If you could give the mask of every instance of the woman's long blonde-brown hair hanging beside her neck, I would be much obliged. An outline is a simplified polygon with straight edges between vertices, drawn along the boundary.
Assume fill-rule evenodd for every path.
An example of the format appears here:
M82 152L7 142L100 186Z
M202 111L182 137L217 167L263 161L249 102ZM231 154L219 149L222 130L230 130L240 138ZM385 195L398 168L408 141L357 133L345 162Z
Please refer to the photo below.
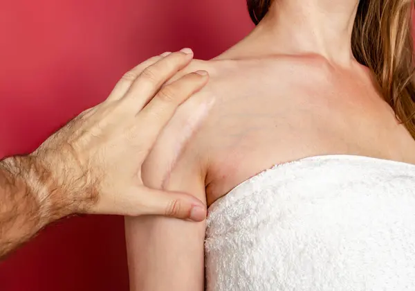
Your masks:
M273 0L248 0L255 24ZM360 0L351 36L353 55L371 71L383 98L415 139L413 0Z

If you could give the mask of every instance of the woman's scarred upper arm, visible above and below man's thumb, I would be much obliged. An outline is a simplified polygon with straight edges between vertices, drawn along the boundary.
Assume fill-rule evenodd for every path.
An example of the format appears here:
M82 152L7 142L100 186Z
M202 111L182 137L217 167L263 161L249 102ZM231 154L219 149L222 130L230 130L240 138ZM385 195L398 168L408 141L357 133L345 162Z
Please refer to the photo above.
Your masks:
M196 93L176 110L142 166L146 186L189 193L206 202L205 141L189 126L212 100ZM196 137L199 136L199 137ZM204 290L205 222L174 218L125 218L130 290Z

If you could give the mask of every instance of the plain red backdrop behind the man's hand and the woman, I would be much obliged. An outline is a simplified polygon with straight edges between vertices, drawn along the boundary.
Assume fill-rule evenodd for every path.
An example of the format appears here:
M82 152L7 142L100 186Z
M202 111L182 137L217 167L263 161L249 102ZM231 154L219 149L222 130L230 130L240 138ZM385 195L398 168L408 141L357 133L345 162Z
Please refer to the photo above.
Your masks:
M212 58L251 28L245 0L2 0L0 158L37 148L146 58ZM48 227L0 263L0 290L127 291L122 218Z

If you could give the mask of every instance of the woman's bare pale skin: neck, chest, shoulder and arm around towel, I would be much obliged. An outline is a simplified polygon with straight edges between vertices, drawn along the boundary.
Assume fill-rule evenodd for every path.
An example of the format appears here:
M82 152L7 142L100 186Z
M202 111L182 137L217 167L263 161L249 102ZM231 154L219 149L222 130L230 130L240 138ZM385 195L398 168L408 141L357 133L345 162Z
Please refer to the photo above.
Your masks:
M278 0L248 37L189 69L210 83L187 101L144 168L149 185L208 206L275 164L344 154L415 164L415 141L351 53L356 0ZM177 78L181 76L178 75ZM163 145L196 100L216 103L178 158ZM164 173L157 168L170 169ZM146 235L143 235L146 233ZM180 233L180 235L178 235ZM126 219L131 290L203 290L205 222Z

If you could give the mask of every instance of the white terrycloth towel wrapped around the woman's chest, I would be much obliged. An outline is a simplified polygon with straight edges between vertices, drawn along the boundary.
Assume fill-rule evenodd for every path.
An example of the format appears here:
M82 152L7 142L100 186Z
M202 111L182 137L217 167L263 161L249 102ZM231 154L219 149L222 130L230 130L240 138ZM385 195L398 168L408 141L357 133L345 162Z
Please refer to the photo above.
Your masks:
M209 209L208 291L415 290L415 166L311 157Z

